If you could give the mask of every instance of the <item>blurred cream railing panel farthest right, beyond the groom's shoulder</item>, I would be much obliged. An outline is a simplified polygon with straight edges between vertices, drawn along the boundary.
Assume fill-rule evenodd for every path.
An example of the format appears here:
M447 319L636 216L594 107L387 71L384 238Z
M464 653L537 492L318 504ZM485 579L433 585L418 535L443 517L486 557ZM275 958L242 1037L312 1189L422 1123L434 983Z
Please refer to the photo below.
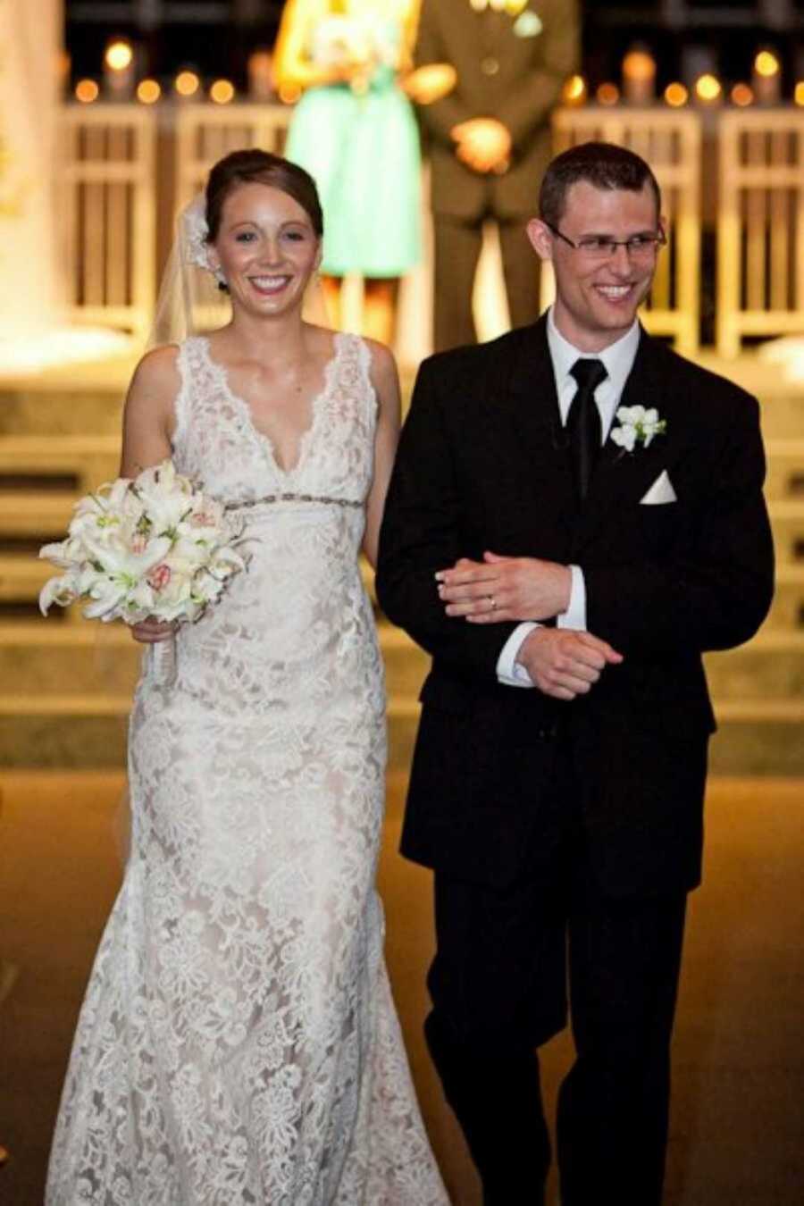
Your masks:
M717 351L804 332L804 110L720 117Z

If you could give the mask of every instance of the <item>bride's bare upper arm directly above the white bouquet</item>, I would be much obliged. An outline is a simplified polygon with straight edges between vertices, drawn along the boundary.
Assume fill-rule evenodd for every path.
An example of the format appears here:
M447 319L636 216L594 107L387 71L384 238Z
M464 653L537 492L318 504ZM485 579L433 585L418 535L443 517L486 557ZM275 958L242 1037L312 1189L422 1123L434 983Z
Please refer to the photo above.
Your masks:
M181 387L175 346L155 347L137 364L123 410L121 476L136 478L171 453L174 400Z

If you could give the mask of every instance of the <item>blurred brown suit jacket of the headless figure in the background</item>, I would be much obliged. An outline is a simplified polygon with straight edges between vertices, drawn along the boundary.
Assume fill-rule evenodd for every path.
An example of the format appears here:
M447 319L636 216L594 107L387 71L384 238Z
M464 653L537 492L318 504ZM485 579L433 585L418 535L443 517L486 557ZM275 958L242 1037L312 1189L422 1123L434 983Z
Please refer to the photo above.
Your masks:
M528 0L517 17L474 12L468 0L423 0L415 64L451 63L458 74L448 96L419 109L436 215L470 219L535 212L551 156L550 115L576 70L579 40L575 0ZM473 117L495 117L509 128L513 156L503 175L479 175L456 158L450 130Z

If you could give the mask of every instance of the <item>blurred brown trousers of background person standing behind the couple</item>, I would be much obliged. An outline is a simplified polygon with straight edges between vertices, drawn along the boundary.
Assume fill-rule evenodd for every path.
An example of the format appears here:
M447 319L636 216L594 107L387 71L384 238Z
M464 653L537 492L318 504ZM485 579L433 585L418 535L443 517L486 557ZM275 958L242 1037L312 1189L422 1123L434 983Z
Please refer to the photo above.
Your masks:
M435 233L435 351L474 344L471 291L482 247L485 217L474 222L436 213ZM539 258L524 233L527 217L499 222L503 274L512 327L539 317Z

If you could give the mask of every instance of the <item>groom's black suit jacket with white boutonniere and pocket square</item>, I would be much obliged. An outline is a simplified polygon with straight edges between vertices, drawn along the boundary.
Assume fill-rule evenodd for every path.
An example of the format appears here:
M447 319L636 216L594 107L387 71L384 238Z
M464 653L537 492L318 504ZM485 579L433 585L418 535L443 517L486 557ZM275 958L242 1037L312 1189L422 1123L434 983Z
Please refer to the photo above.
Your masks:
M604 446L575 502L546 322L422 364L388 493L377 595L433 655L403 853L505 884L548 862L557 734L581 780L589 851L612 895L700 877L702 651L750 638L773 593L756 400L641 334L621 405L656 406L650 447ZM677 500L641 504L667 470ZM497 681L515 625L450 619L433 575L485 550L577 563L588 628L624 654L571 703Z

